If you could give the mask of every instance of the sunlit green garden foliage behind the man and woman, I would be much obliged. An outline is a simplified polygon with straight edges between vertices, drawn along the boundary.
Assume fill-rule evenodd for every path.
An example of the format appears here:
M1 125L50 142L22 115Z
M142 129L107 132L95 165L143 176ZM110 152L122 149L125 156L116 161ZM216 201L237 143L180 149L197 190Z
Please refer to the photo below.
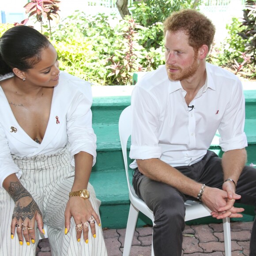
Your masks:
M42 25L42 33L55 46L60 69L98 85L127 85L132 84L133 72L164 64L162 21L173 11L198 9L200 4L201 0L135 1L124 19L76 11L52 26L51 33L48 24ZM207 61L256 79L255 3L245 4L244 19L233 18L227 38L213 45ZM0 24L0 35L11 26Z

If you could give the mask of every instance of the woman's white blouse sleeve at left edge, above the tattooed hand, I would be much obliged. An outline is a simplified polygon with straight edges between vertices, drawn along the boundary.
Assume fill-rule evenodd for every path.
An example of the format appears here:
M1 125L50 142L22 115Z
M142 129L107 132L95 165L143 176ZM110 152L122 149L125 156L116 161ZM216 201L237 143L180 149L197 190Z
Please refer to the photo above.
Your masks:
M0 124L0 188L3 188L5 178L13 173L16 173L18 178L21 176L21 170L11 158L8 141Z

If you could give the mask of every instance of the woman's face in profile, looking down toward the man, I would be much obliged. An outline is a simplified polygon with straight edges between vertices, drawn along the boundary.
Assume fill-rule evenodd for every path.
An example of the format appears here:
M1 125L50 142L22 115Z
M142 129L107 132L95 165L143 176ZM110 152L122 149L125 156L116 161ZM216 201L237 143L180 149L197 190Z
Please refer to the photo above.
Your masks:
M25 73L26 83L40 87L54 87L59 83L59 62L53 45L43 49L41 60Z

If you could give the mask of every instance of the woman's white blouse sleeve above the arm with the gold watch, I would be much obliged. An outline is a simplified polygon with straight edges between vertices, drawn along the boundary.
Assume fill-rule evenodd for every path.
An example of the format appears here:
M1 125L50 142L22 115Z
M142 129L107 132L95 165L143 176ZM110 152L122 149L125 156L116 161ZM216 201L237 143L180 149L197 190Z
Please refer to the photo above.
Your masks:
M96 162L96 135L92 128L91 104L91 97L79 93L67 113L69 151L73 166L75 166L74 155L80 151L93 156L93 166Z

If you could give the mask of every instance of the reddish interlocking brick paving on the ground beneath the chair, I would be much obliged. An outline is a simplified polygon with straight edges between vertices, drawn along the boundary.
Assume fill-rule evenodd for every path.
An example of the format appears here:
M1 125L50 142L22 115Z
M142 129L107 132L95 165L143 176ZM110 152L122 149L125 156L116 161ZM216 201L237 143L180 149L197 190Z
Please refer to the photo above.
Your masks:
M252 222L231 223L232 256L249 256ZM122 256L125 229L103 230L109 256ZM152 228L135 231L130 256L151 256ZM183 239L183 255L224 256L222 224L186 226ZM39 242L37 256L51 256L48 239Z

